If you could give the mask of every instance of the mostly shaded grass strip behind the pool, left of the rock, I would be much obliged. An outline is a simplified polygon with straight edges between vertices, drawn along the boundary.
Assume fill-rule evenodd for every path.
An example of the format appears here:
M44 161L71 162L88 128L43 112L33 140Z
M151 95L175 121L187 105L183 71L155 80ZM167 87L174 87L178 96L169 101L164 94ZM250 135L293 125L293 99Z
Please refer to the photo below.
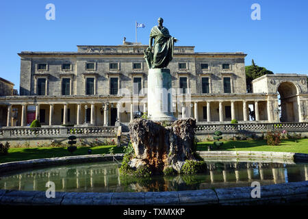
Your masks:
M77 151L71 155L66 147L41 147L41 148L12 148L9 149L8 155L0 156L0 163L15 162L26 159L40 159L51 157L65 157L75 155L88 155L88 149L92 149L92 155L109 154L109 150L114 148L114 153L123 153L123 148L118 148L115 145L103 146L79 146Z

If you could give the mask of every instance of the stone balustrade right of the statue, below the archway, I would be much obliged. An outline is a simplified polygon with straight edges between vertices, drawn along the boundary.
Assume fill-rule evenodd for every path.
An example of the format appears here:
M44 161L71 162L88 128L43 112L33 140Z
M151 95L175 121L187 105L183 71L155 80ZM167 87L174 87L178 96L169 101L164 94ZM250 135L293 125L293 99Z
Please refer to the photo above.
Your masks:
M266 131L307 131L308 123L238 123L238 124L202 124L198 123L196 133L266 132Z

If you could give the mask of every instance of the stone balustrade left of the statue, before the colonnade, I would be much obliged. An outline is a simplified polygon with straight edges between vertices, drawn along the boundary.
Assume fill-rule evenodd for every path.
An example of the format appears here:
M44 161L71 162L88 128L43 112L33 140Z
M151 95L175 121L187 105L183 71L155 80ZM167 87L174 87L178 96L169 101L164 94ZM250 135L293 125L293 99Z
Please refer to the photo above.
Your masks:
M0 129L1 139L18 138L66 138L75 136L114 137L118 127L4 127Z

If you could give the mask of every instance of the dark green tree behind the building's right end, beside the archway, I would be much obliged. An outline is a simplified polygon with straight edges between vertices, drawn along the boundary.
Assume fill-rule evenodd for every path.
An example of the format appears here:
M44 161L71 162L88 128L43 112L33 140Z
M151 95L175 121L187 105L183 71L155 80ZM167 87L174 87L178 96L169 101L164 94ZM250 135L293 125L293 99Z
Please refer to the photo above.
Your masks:
M252 60L251 66L245 66L246 73L246 88L247 92L253 92L253 83L254 79L261 77L263 75L273 75L274 73L271 70L267 70L264 67L257 66L255 61Z

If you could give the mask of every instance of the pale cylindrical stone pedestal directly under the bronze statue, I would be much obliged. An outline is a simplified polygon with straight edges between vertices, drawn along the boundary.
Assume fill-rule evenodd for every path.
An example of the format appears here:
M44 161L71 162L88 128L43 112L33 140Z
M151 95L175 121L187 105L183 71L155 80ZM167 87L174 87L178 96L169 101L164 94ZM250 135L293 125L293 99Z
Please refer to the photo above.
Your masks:
M172 116L171 75L168 68L150 68L148 76L148 116L155 121L175 121Z

